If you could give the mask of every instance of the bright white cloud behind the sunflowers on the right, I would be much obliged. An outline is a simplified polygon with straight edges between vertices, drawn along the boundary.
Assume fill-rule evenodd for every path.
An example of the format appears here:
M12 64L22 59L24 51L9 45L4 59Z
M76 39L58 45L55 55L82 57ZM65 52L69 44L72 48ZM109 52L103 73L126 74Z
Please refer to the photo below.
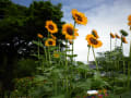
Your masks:
M86 3L86 2L85 2ZM103 41L103 47L95 49L96 52L103 52L110 49L110 38L109 34L119 33L120 29L124 29L130 33L127 25L127 17L131 14L131 0L115 0L111 4L103 3L97 8L90 11L85 11L88 19L86 26L76 26L79 28L80 37L74 42L74 52L78 53L76 60L86 61L87 59L87 42L85 36L95 28ZM69 9L70 10L70 9ZM68 11L67 11L68 13ZM71 14L70 14L71 15ZM131 35L129 35L131 36ZM129 44L123 45L124 54L129 53L130 39L129 36L127 40ZM118 46L120 40L118 40ZM112 40L112 49L115 48L115 40ZM90 60L94 60L93 53L91 52Z

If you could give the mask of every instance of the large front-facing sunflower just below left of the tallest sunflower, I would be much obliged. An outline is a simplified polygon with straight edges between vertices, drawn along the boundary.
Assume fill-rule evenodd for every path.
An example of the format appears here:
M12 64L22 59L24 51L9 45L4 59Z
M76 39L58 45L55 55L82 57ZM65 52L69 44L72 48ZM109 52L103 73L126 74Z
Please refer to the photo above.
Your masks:
M75 39L76 36L79 36L76 32L78 29L75 29L72 24L62 25L62 34L66 35L66 39Z

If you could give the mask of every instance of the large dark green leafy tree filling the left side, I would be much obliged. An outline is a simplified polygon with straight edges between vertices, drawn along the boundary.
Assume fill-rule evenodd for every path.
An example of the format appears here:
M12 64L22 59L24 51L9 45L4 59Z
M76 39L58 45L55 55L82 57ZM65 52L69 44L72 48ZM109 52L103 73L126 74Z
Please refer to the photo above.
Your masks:
M29 8L10 0L0 1L0 84L3 91L13 89L12 79L19 76L17 61L31 58L32 50L36 49L32 41L37 39L37 33L47 37L45 22L52 20L61 29L64 23L61 17L61 4L53 5L50 1L34 1ZM56 36L64 40L61 30Z

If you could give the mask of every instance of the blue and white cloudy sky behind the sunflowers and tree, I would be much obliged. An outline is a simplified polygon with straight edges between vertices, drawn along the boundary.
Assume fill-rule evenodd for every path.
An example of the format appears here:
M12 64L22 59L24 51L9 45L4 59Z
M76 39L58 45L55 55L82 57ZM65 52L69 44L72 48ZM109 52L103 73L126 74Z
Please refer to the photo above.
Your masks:
M28 7L33 0L12 0L15 3ZM36 0L38 1L38 0ZM41 0L47 1L47 0ZM96 48L97 52L110 50L110 33L117 33L124 29L129 33L127 37L128 44L123 45L123 53L129 56L131 30L129 30L128 16L131 14L131 0L50 0L53 4L62 3L63 17L62 21L72 23L72 9L83 12L87 17L87 25L76 25L79 37L74 40L74 53L78 54L76 61L87 61L87 41L85 36L91 34L92 29L96 29L103 47ZM120 40L117 41L120 46ZM115 39L112 39L112 49L115 48ZM90 61L93 61L93 52L90 52Z

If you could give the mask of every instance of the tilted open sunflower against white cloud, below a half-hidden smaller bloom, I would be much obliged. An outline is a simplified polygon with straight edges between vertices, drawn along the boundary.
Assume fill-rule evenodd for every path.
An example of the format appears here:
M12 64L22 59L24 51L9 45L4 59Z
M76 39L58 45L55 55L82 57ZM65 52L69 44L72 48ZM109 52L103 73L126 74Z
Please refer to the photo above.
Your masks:
M86 36L85 38L88 42L90 46L92 46L93 48L98 48L98 47L102 47L102 41L100 40L97 40L96 37L94 37L94 35L90 34Z

